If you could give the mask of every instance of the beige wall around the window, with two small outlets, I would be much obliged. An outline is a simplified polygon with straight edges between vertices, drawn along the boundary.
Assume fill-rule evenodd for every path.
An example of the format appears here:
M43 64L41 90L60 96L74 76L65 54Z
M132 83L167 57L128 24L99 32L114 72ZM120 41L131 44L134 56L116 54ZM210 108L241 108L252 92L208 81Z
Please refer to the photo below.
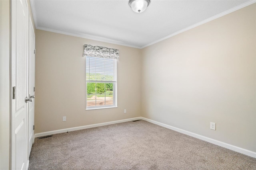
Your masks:
M85 110L84 44L120 50L117 108ZM36 29L35 133L140 116L140 79L140 49Z

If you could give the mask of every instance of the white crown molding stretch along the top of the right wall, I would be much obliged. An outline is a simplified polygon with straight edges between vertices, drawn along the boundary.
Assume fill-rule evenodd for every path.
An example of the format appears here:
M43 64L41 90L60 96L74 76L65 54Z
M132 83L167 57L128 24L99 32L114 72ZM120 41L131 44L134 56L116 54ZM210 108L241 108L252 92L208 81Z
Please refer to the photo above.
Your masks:
M220 17L222 17L222 16L225 16L225 15L227 15L227 14L230 14L231 12L234 12L234 11L236 11L236 10L240 10L241 8L244 8L244 7L246 7L246 6L249 6L249 5L251 5L251 4L254 4L255 2L256 2L256 0L250 0L250 1L248 1L248 2L245 2L244 4L238 5L238 6L234 7L234 8L231 8L230 10L227 10L227 11L224 11L224 12L222 12L222 13L220 13L220 14L217 14L216 16L210 17L210 18L208 18L208 19L206 19L206 20L204 20L204 21L200 21L200 22L198 22L198 23L196 23L196 24L194 24L194 25L191 25L191 26L189 26L189 27L186 27L186 28L184 28L184 29L181 29L180 31L177 31L177 32L175 32L175 33L172 33L172 34L170 34L170 35L168 35L168 36L166 36L166 37L163 37L163 38L161 38L161 39L158 39L158 40L156 40L156 41L153 41L152 43L149 43L149 44L147 44L147 45L144 45L144 46L140 47L140 49L143 49L143 48L148 47L148 46L150 46L150 45L156 44L156 43L158 43L158 42L160 42L160 41L163 41L163 40L165 40L165 39L168 39L168 38L170 38L170 37L173 37L173 36L175 36L175 35L178 35L178 34L180 34L180 33L185 32L185 31L188 31L189 29L192 29L192 28L197 27L197 26L199 26L199 25L202 25L202 24L204 24L204 23L210 22L210 21L212 21L212 20L215 20L215 19L220 18Z

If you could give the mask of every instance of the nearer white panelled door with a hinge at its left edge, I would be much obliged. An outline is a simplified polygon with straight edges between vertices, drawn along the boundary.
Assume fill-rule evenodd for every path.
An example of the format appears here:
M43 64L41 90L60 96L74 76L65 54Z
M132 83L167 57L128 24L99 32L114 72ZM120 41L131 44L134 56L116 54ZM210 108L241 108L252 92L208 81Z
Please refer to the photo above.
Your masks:
M26 0L11 1L11 169L27 168L27 35L28 6ZM14 89L15 88L15 89ZM14 94L15 92L15 94Z

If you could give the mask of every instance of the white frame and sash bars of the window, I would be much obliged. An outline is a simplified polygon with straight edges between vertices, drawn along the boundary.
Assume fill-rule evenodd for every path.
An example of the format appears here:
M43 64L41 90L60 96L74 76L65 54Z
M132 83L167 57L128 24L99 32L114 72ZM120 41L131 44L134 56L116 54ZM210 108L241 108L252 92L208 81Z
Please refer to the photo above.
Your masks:
M86 56L86 60L87 60L87 57L90 57L90 56ZM100 58L100 57L98 57ZM104 58L101 58L101 59L104 59ZM107 108L115 108L115 107L118 107L117 106L117 60L114 59L115 61L115 79L116 81L88 81L87 78L86 78L86 110L94 110L94 109L107 109ZM86 68L87 68L87 63L86 63ZM86 74L87 74L87 71L86 71ZM94 83L113 83L113 105L104 105L104 106L90 106L88 107L87 106L87 83L89 82L94 82ZM106 91L106 85L105 85L105 91ZM105 92L106 93L106 92ZM105 101L106 101L106 96L105 96ZM105 102L106 104L106 102Z

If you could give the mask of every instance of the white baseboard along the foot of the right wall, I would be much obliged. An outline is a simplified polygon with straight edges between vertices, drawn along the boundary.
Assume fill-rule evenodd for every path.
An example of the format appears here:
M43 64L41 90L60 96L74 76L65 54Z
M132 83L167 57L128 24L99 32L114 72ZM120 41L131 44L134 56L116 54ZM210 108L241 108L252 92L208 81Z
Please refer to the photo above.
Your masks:
M147 119L145 117L141 117L140 119L142 120L145 120L145 121L148 121L150 123L154 123L156 125L159 125L159 126L162 126L162 127L166 127L168 129L172 129L174 131L177 131L177 132L180 132L180 133L184 133L186 135L189 135L189 136L192 136L192 137L195 137L195 138L198 138L198 139L201 139L203 141L206 141L206 142L209 142L209 143L213 143L215 145L218 145L218 146L221 146L221 147L224 147L224 148L227 148L227 149L230 149L230 150L234 150L236 152L240 152L242 154L246 154L248 156L251 156L251 157L254 157L256 158L256 152L253 152L253 151L250 151L250 150L247 150L247 149L243 149L243 148L240 148L240 147L236 147L234 145L230 145L228 143L224 143L224 142L221 142L221 141L217 141L215 139L211 139L209 137L205 137L205 136L202 136L202 135L198 135L196 133L192 133L190 131L185 131L183 129L179 129L177 127L173 127L173 126L170 126L170 125L166 125L164 123L160 123L158 121L154 121L154 120L151 120L151 119Z

